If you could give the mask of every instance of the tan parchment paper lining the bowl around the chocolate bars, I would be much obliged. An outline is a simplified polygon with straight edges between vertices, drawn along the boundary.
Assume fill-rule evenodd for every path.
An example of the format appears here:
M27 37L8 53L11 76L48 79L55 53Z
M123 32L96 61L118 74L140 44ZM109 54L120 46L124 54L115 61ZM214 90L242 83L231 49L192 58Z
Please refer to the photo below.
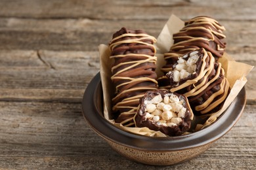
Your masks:
M157 42L154 44L157 49L156 56L158 57L156 73L158 76L163 75L160 68L165 65L165 60L163 59L163 54L169 52L169 49L173 45L173 33L177 33L182 27L184 27L184 22L177 18L175 15L171 15L167 23L164 25L161 30L160 35L158 36ZM136 133L139 135L146 135L150 137L166 137L167 135L161 133L160 131L153 131L148 129L148 127L124 127L120 124L117 124L113 120L112 115L112 104L111 100L114 96L114 86L111 82L111 67L113 59L110 59L110 49L105 44L100 44L98 46L100 52L100 77L102 81L102 90L104 98L104 117L106 120L110 121L114 126L117 126L125 131L131 133ZM253 69L253 66L247 65L245 63L236 62L231 56L224 53L223 57L219 59L223 69L225 70L225 76L230 83L230 93L224 102L224 105L221 110L215 112L208 116L204 124L196 124L194 131L199 131L204 127L209 126L217 120L217 118L223 114L224 110L234 101L235 97L238 95L240 90L244 87L247 79L245 76Z

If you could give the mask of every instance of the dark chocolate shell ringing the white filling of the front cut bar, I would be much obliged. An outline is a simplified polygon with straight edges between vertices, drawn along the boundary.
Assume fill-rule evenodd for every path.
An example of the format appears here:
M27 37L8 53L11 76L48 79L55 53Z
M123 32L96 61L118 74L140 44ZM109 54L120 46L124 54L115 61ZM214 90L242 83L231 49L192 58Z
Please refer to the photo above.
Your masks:
M144 101L151 100L156 95L161 94L161 97L163 98L167 94L171 94L168 90L154 90L154 91L148 91L145 93L144 97L140 99L140 105L139 109L137 111L137 114L135 115L135 124L137 127L148 127L149 129L152 129L154 131L161 131L162 133L165 133L169 136L178 136L182 135L185 131L188 131L190 129L190 122L192 118L192 110L190 109L190 105L188 103L188 100L184 95L181 95L179 93L173 93L179 97L180 100L184 101L182 104L183 107L186 108L186 113L184 118L182 118L182 122L177 124L177 126L163 126L163 124L156 124L156 122L152 120L148 120L145 118L146 115L146 105L144 105Z

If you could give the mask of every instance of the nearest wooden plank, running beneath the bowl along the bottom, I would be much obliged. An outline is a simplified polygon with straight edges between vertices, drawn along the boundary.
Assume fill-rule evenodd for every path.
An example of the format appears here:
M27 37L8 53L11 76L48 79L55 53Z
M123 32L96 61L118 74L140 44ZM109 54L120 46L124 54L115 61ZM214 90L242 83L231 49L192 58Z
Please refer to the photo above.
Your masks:
M256 106L246 105L236 126L209 150L172 168L253 169L255 118ZM85 123L79 103L0 102L0 150L3 169L159 168L126 160L114 152Z

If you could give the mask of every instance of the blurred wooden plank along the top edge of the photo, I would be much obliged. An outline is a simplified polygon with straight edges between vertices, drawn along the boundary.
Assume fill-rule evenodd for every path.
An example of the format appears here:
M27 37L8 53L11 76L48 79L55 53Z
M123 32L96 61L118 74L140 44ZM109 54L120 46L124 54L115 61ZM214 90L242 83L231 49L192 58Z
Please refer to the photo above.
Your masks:
M0 17L91 18L100 20L166 20L170 14L188 19L209 15L219 20L255 20L253 0L236 1L58 1L3 0Z

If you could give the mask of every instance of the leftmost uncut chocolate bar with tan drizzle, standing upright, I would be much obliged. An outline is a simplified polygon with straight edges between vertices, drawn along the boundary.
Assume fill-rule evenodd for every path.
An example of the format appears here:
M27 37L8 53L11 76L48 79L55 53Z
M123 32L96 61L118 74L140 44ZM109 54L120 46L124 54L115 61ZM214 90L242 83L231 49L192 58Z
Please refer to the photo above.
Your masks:
M128 34L128 35L125 35ZM129 36L133 34L133 36ZM137 95L143 95L147 90L152 88L157 89L158 84L152 80L139 80L131 82L129 78L151 78L156 80L157 75L155 72L156 63L152 61L145 61L148 59L148 56L154 56L156 50L152 44L154 40L150 37L143 37L146 35L146 32L143 30L132 30L122 27L119 31L114 33L113 39L110 42L112 44L117 44L111 48L111 56L125 55L123 58L114 58L114 64L112 65L112 74L115 77L123 78L114 78L112 82L116 88L116 94L114 99L112 99L113 105L119 105L121 101L129 97L136 97ZM125 35L125 36L123 36ZM119 37L119 38L118 38ZM129 42L131 40L139 42ZM145 44L146 43L146 44ZM140 55L141 54L141 55ZM144 56L147 55L147 56ZM143 61L143 62L142 62ZM128 63L133 62L133 63ZM127 63L127 64L126 64ZM136 66L133 66L135 63L139 63ZM131 67L125 71L127 67ZM120 72L121 71L121 72ZM123 84L127 82L127 84ZM123 84L119 86L120 84ZM136 90L136 88L143 88L142 90ZM134 89L134 90L133 90ZM132 90L127 92L127 90ZM127 118L131 118L133 114L121 114L122 112L127 112L131 110L130 107L137 107L139 105L139 100L137 101L127 101L127 103L121 103L123 108L115 108L116 112L116 122L120 123ZM119 115L121 114L121 115Z

